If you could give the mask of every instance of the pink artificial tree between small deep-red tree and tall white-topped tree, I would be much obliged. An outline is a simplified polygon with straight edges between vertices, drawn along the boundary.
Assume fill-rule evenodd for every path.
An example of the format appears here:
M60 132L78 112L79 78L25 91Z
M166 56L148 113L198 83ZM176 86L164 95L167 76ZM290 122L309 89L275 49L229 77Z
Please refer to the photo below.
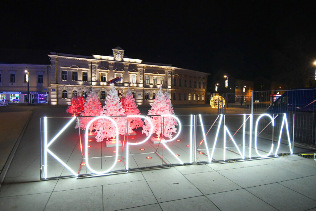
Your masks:
M84 110L82 111L82 113L80 114L80 116L100 116L102 110L102 106L101 106L101 102L98 98L97 93L95 93L94 91L91 91L90 94L87 97L86 102L84 103ZM86 126L88 124L87 122L90 120L92 120L93 118L79 118L79 124L80 124L80 128L81 129L86 129ZM96 125L97 121L93 122L89 129L93 130L96 129L95 125ZM78 128L78 122L75 128Z

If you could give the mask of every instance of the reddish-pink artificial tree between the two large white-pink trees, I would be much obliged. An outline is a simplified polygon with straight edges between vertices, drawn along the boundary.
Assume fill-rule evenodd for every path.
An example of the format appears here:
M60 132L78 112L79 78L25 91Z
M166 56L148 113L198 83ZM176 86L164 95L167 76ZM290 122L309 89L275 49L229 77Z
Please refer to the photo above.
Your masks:
M139 109L137 108L135 98L131 90L128 91L122 101L123 109L125 110L125 115L140 115ZM128 133L134 133L133 129L137 127L143 127L143 121L141 118L129 118L128 119Z

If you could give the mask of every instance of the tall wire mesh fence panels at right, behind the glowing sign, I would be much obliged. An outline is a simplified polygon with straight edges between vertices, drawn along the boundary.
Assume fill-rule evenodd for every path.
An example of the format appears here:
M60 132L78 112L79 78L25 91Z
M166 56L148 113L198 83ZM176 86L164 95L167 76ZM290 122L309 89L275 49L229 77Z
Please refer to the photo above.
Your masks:
M294 142L316 146L316 88L222 94L219 114L288 114L294 122Z

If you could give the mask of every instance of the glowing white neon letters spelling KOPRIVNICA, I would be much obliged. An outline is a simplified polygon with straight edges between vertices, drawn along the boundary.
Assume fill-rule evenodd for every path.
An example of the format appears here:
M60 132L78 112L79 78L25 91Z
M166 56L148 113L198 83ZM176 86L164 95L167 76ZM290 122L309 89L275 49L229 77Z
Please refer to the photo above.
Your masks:
M189 117L189 118L187 118L187 120L186 120L187 121L187 125L185 125L185 126L186 127L190 127L190 128L187 129L187 130L184 130L183 133L188 133L188 136L185 135L185 137L182 139L182 141L185 142L186 147L188 147L188 149L189 149L189 152L187 153L188 154L187 157L189 157L189 160L187 160L185 162L181 157L179 157L179 154L181 154L181 152L183 152L182 149L180 149L179 147L174 147L172 149L170 147L170 145L168 146L168 143L170 144L170 143L177 142L175 140L177 140L177 138L181 134L181 132L182 132L181 128L184 127L184 126L181 124L180 119L179 119L178 116L175 116L175 115L161 115L162 118L163 117L173 118L173 119L175 119L178 122L177 133L173 135L173 138L171 138L169 140L161 141L161 144L162 144L163 148L167 150L167 152L170 155L170 157L175 161L175 163L170 163L172 165L183 165L183 164L194 164L194 163L197 163L196 160L194 160L194 154L196 154L196 152L200 152L199 150L197 150L197 148L198 148L198 146L201 146L201 145L204 146L204 148L205 148L204 149L205 153L202 153L202 154L205 154L207 156L207 161L209 163L212 163L212 162L214 162L213 157L214 157L214 152L216 150L216 146L218 146L219 144L220 145L222 144L221 145L222 147L220 147L220 149L223 148L223 151L222 151L223 152L223 159L222 159L222 161L225 161L226 160L226 150L228 148L228 146L226 146L227 145L226 143L228 141L227 140L228 139L227 135L230 138L229 141L232 141L233 147L235 147L237 149L236 154L238 154L239 159L246 160L246 159L250 159L252 157L265 158L265 157L268 157L268 156L277 156L278 155L278 151L279 151L280 143L281 143L282 132L284 130L286 130L286 134L283 134L283 136L286 136L286 142L287 142L288 147L289 147L289 153L291 153L291 154L293 153L293 143L291 143L291 140L290 140L289 123L288 123L288 119L287 119L286 114L277 115L279 117L282 117L282 121L279 122L279 124L281 124L281 126L280 126L280 130L279 130L277 146L275 148L274 144L273 144L273 141L272 141L270 151L269 152L265 152L265 154L261 154L262 152L260 153L259 151L262 151L262 150L258 149L258 126L259 126L260 120L265 119L265 121L268 120L268 122L269 122L267 124L267 126L270 125L269 127L272 127L272 129L273 129L275 127L275 118L276 118L276 116L272 117L269 114L258 115L258 118L257 118L255 124L253 122L253 116L254 115L251 115L251 114L250 115L246 115L246 114L242 115L243 122L242 122L242 124L241 124L241 126L239 128L239 129L242 128L242 133L241 133L242 134L242 142L241 142L241 144L237 144L236 138L234 138L234 135L237 132L234 135L232 135L230 133L227 124L225 124L224 121L223 121L223 119L225 118L225 115L213 115L212 116L214 118L216 117L213 125L215 123L216 123L216 125L218 125L218 127L216 129L216 132L213 130L215 132L215 135L212 135L212 136L207 136L207 133L205 134L204 127L206 127L206 125L204 126L204 124L203 124L202 115L187 115L186 117ZM139 117L139 118L142 118L143 120L146 120L149 123L149 125L151 126L151 128L149 130L149 134L152 134L153 124L150 121L150 118L148 116L130 115L130 116L126 116L126 117L127 118ZM50 158L49 162L51 162L52 158L54 158L61 165L63 165L66 169L68 169L71 172L71 175L68 175L68 177L69 176L74 176L74 177L78 178L78 177L84 177L86 175L88 175L88 176L100 176L100 175L112 174L114 172L113 171L114 167L118 165L119 161L121 161L120 159L118 159L119 152L122 152L121 155L125 156L125 158L122 157L123 158L122 160L124 161L124 166L125 166L125 168L123 170L125 172L130 172L131 171L130 164L129 164L130 163L130 159L131 159L131 156L135 155L135 153L131 153L131 151L130 151L131 148L130 147L132 147L132 146L143 147L144 144L146 144L146 142L148 142L148 140L150 139L150 136L151 136L151 135L148 135L143 140L140 140L140 141L135 142L135 143L129 142L127 140L126 143L125 143L125 149L124 149L124 144L123 144L123 147L120 148L119 141L116 141L116 145L114 147L112 147L112 149L114 149L114 151L111 150L111 152L115 152L115 156L113 156L113 155L112 156L108 156L108 157L112 158L113 163L108 163L107 162L107 165L105 165L106 168L105 169L102 168L102 171L98 171L94 167L95 164L94 163L90 163L90 162L96 162L97 159L93 159L95 157L93 157L93 158L90 157L89 158L89 154L90 154L90 151L91 151L91 149L89 149L90 146L89 146L89 143L88 143L90 141L89 138L88 138L88 133L89 133L89 129L88 128L89 128L89 126L94 121L98 121L100 119L107 119L107 120L111 121L112 124L116 128L116 140L119 140L119 130L118 130L118 125L116 124L116 122L110 116L97 116L97 117L90 118L91 120L88 121L86 130L85 130L84 153L82 152L82 158L80 157L80 159L82 159L84 161L84 163L81 163L80 168L82 167L82 164L85 165L86 168L87 168L87 171L89 171L89 173L82 173L82 172L80 172L80 169L79 169L78 172L76 172L77 169L74 168L73 165L68 164L67 161L65 161L63 159L63 157L64 157L63 155L57 155L58 153L60 153L60 151L64 152L64 149L61 149L60 147L56 148L56 145L55 145L55 147L52 147L52 144L55 141L57 141L57 140L62 140L61 139L61 135L63 133L65 133L66 129L70 125L73 125L75 123L75 120L77 118L78 117L76 117L76 116L72 117L64 125L64 127L61 130L59 130L59 132L51 139L48 138L48 133L52 133L52 131L53 131L53 130L48 130L47 119L49 119L49 118L48 117L42 118L42 121L43 121L42 138L43 138L43 140L42 140L42 147L41 147L41 179L51 179L51 178L59 178L59 177L61 177L61 176L59 176L59 177L49 177L48 176L48 171L51 171L51 169L50 169L51 166L48 165L48 158ZM199 124L197 124L197 119L200 121ZM210 127L210 130L213 127L213 125ZM248 127L247 133L246 133L246 125ZM253 128L253 126L254 126L254 128ZM53 127L53 126L51 126L51 127ZM195 139L196 133L197 133L197 127L201 127L201 131L202 131L202 135L203 135L203 140L202 140L202 142L199 143L200 145L198 145L198 146L197 146L198 143L196 142L196 139ZM266 127L264 127L264 128L266 128ZM254 132L253 132L253 129L254 129ZM223 135L222 143L219 141L220 140L219 137L221 137L220 131L223 132L223 134L222 134ZM246 135L249 135L248 140L246 140ZM209 139L209 141L207 139ZM210 139L212 139L212 140L210 141ZM178 139L178 141L179 141L179 139ZM254 141L254 146L252 146L253 141ZM209 146L210 142L212 142L212 146ZM276 143L276 142L274 142L274 143ZM248 149L248 153L249 154L248 154L248 156L246 156L246 146L249 146L249 149ZM50 147L54 148L54 149L50 149ZM80 138L80 147L82 148L81 138ZM229 147L232 147L232 146L229 146ZM253 148L254 148L257 156L252 156L252 149ZM157 149L158 149L158 147L157 147ZM72 150L73 150L73 148L72 148ZM140 150L144 150L144 149L142 148ZM177 151L175 151L175 150L177 150ZM123 153L123 151L126 154ZM157 152L157 150L156 150L156 152ZM144 153L144 154L146 154L146 153ZM148 154L148 152L147 152L147 154ZM201 153L199 153L199 154L201 154ZM50 157L49 155L52 156L52 157ZM105 158L105 157L106 156L104 154L102 154L102 156L100 156L98 158ZM148 156L146 155L146 157L148 157ZM152 158L152 157L150 157L150 158ZM148 167L148 166L146 166L146 167ZM138 168L138 170L141 170L141 169L142 169L141 167ZM121 169L120 173L122 173L123 170ZM58 174L54 174L54 175L58 175Z

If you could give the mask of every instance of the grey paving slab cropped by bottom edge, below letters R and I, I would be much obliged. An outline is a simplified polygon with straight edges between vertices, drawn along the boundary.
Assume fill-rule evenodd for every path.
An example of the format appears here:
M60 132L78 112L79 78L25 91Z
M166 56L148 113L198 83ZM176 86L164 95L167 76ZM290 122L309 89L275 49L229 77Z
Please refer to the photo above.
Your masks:
M219 210L205 196L196 196L159 204L162 210Z

